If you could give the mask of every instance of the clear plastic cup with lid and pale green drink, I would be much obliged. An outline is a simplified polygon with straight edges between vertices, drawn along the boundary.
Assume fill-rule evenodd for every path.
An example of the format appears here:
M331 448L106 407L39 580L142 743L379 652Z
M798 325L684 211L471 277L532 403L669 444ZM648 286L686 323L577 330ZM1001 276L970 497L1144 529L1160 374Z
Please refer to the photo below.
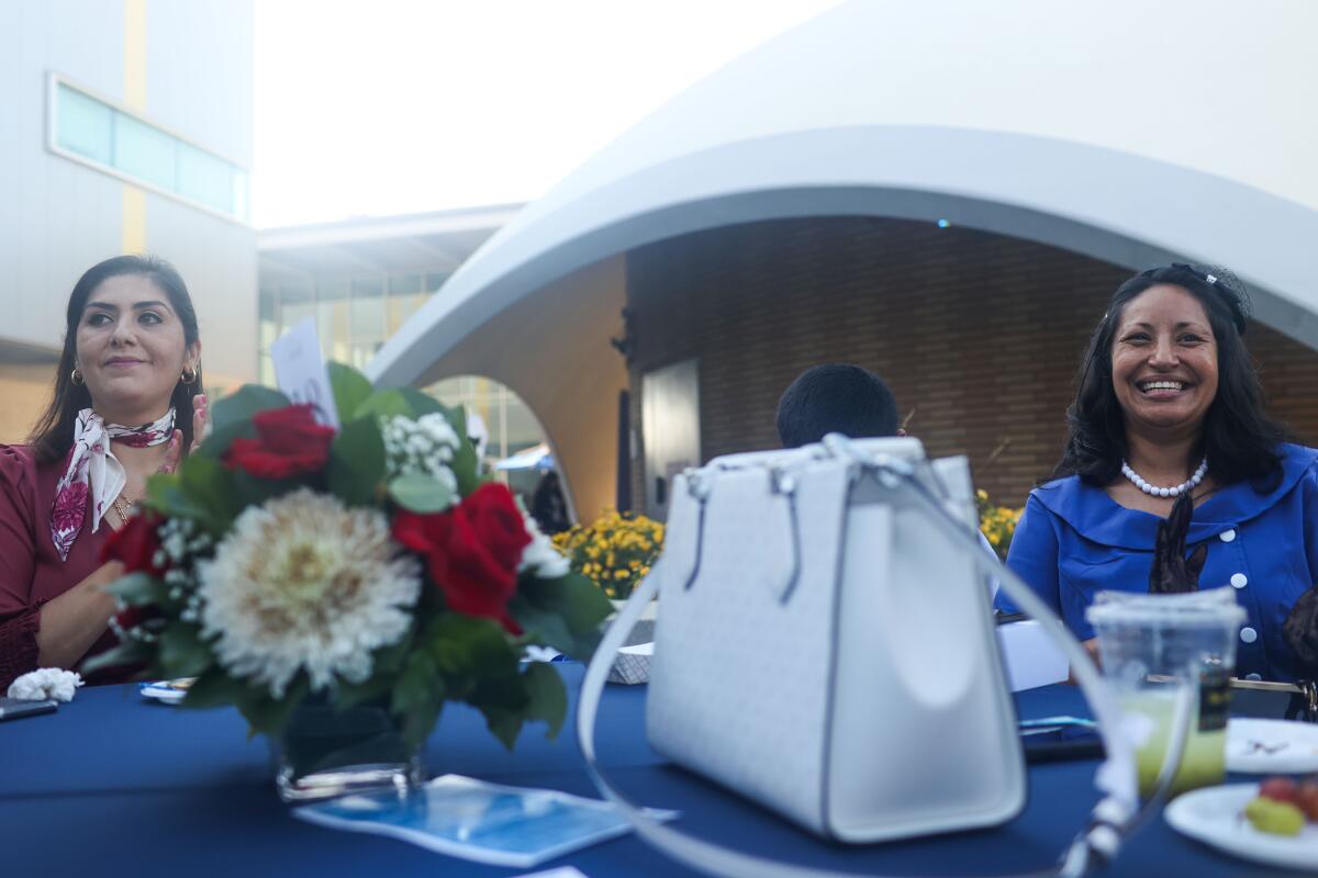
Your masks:
M1102 591L1085 611L1098 634L1103 675L1136 735L1140 795L1157 788L1177 696L1193 687L1190 728L1169 795L1222 783L1227 681L1246 612L1234 588L1173 595Z

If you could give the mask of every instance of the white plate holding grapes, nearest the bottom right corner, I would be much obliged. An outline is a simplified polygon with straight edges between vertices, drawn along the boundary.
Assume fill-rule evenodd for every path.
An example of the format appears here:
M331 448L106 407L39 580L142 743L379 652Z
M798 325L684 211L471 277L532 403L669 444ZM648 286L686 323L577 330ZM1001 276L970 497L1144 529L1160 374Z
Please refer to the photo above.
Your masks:
M1259 832L1244 819L1244 806L1259 795L1257 783L1205 787L1177 796L1162 816L1177 832L1244 860L1313 873L1318 864L1318 824L1298 836Z

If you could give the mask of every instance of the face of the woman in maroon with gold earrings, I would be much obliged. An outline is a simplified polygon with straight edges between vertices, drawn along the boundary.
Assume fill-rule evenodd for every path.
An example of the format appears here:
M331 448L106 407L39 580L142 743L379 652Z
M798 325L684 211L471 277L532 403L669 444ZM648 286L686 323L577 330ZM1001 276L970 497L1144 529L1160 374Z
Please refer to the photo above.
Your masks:
M169 409L200 342L188 346L169 296L142 275L117 275L92 290L78 321L78 370L92 405L109 421L137 425Z

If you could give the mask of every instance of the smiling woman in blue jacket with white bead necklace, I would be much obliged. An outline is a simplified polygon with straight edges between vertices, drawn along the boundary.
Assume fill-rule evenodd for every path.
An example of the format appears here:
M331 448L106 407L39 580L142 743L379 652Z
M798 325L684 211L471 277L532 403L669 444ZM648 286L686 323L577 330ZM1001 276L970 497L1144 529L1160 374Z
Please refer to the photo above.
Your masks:
M1282 625L1318 599L1306 595L1318 582L1318 453L1285 442L1264 412L1244 330L1239 282L1173 265L1122 284L1090 338L1066 450L1031 492L1007 563L1091 650L1085 608L1102 590L1148 590L1157 525L1189 494L1186 546L1207 545L1198 587L1235 588L1248 612L1236 673L1314 674L1311 650L1297 656Z

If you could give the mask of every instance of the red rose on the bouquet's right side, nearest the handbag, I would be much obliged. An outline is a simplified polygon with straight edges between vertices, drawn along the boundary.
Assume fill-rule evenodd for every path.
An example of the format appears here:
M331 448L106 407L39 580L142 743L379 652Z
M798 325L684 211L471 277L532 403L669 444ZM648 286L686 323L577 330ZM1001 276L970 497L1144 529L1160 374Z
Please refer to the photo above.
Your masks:
M451 609L497 619L510 633L522 633L507 602L517 591L517 566L531 534L505 486L482 484L448 512L403 509L393 530L398 542L426 558Z

